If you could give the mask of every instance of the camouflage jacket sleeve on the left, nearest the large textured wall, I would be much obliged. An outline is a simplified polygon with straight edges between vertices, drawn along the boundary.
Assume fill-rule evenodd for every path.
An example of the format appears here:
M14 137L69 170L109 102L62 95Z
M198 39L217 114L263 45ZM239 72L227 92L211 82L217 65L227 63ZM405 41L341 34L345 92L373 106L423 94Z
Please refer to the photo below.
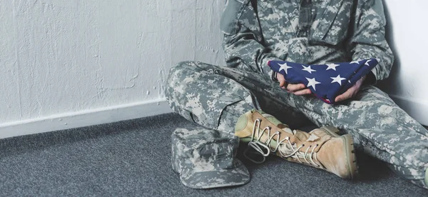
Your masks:
M270 74L267 61L280 60L263 46L257 15L249 0L228 0L220 29L228 67Z

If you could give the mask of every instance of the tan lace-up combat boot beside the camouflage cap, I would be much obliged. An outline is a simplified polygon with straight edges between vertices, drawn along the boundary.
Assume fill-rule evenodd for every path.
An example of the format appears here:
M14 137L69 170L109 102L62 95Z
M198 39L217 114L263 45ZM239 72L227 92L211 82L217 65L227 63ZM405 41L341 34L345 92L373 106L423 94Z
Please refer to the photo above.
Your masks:
M263 155L263 161L265 156L272 153L287 161L321 168L342 178L355 178L357 163L352 136L339 136L337 131L331 126L317 128L310 133L292 131L277 118L256 110L240 116L235 126L235 136Z

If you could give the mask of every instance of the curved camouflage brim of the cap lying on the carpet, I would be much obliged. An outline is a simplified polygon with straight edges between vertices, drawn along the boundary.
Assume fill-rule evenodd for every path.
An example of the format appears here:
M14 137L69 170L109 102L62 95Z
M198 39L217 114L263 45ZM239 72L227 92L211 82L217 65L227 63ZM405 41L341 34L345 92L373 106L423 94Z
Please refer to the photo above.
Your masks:
M215 171L193 171L180 173L180 180L189 188L220 188L241 186L250 181L250 173L238 158L235 158L235 168L218 169Z

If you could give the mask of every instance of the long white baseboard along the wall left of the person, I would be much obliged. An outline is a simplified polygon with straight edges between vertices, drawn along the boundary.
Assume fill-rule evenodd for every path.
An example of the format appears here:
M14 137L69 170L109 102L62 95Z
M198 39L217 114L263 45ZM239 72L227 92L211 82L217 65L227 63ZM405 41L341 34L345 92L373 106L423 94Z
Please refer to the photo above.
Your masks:
M172 112L164 98L0 124L0 138L58 131Z

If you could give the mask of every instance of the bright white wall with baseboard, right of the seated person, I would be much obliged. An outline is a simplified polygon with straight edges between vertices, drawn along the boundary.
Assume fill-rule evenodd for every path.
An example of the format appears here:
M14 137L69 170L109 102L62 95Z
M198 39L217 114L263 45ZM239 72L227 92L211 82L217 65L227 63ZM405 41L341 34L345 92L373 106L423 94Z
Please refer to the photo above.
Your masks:
M428 1L384 0L387 37L396 61L387 81L380 84L417 121L428 126Z

